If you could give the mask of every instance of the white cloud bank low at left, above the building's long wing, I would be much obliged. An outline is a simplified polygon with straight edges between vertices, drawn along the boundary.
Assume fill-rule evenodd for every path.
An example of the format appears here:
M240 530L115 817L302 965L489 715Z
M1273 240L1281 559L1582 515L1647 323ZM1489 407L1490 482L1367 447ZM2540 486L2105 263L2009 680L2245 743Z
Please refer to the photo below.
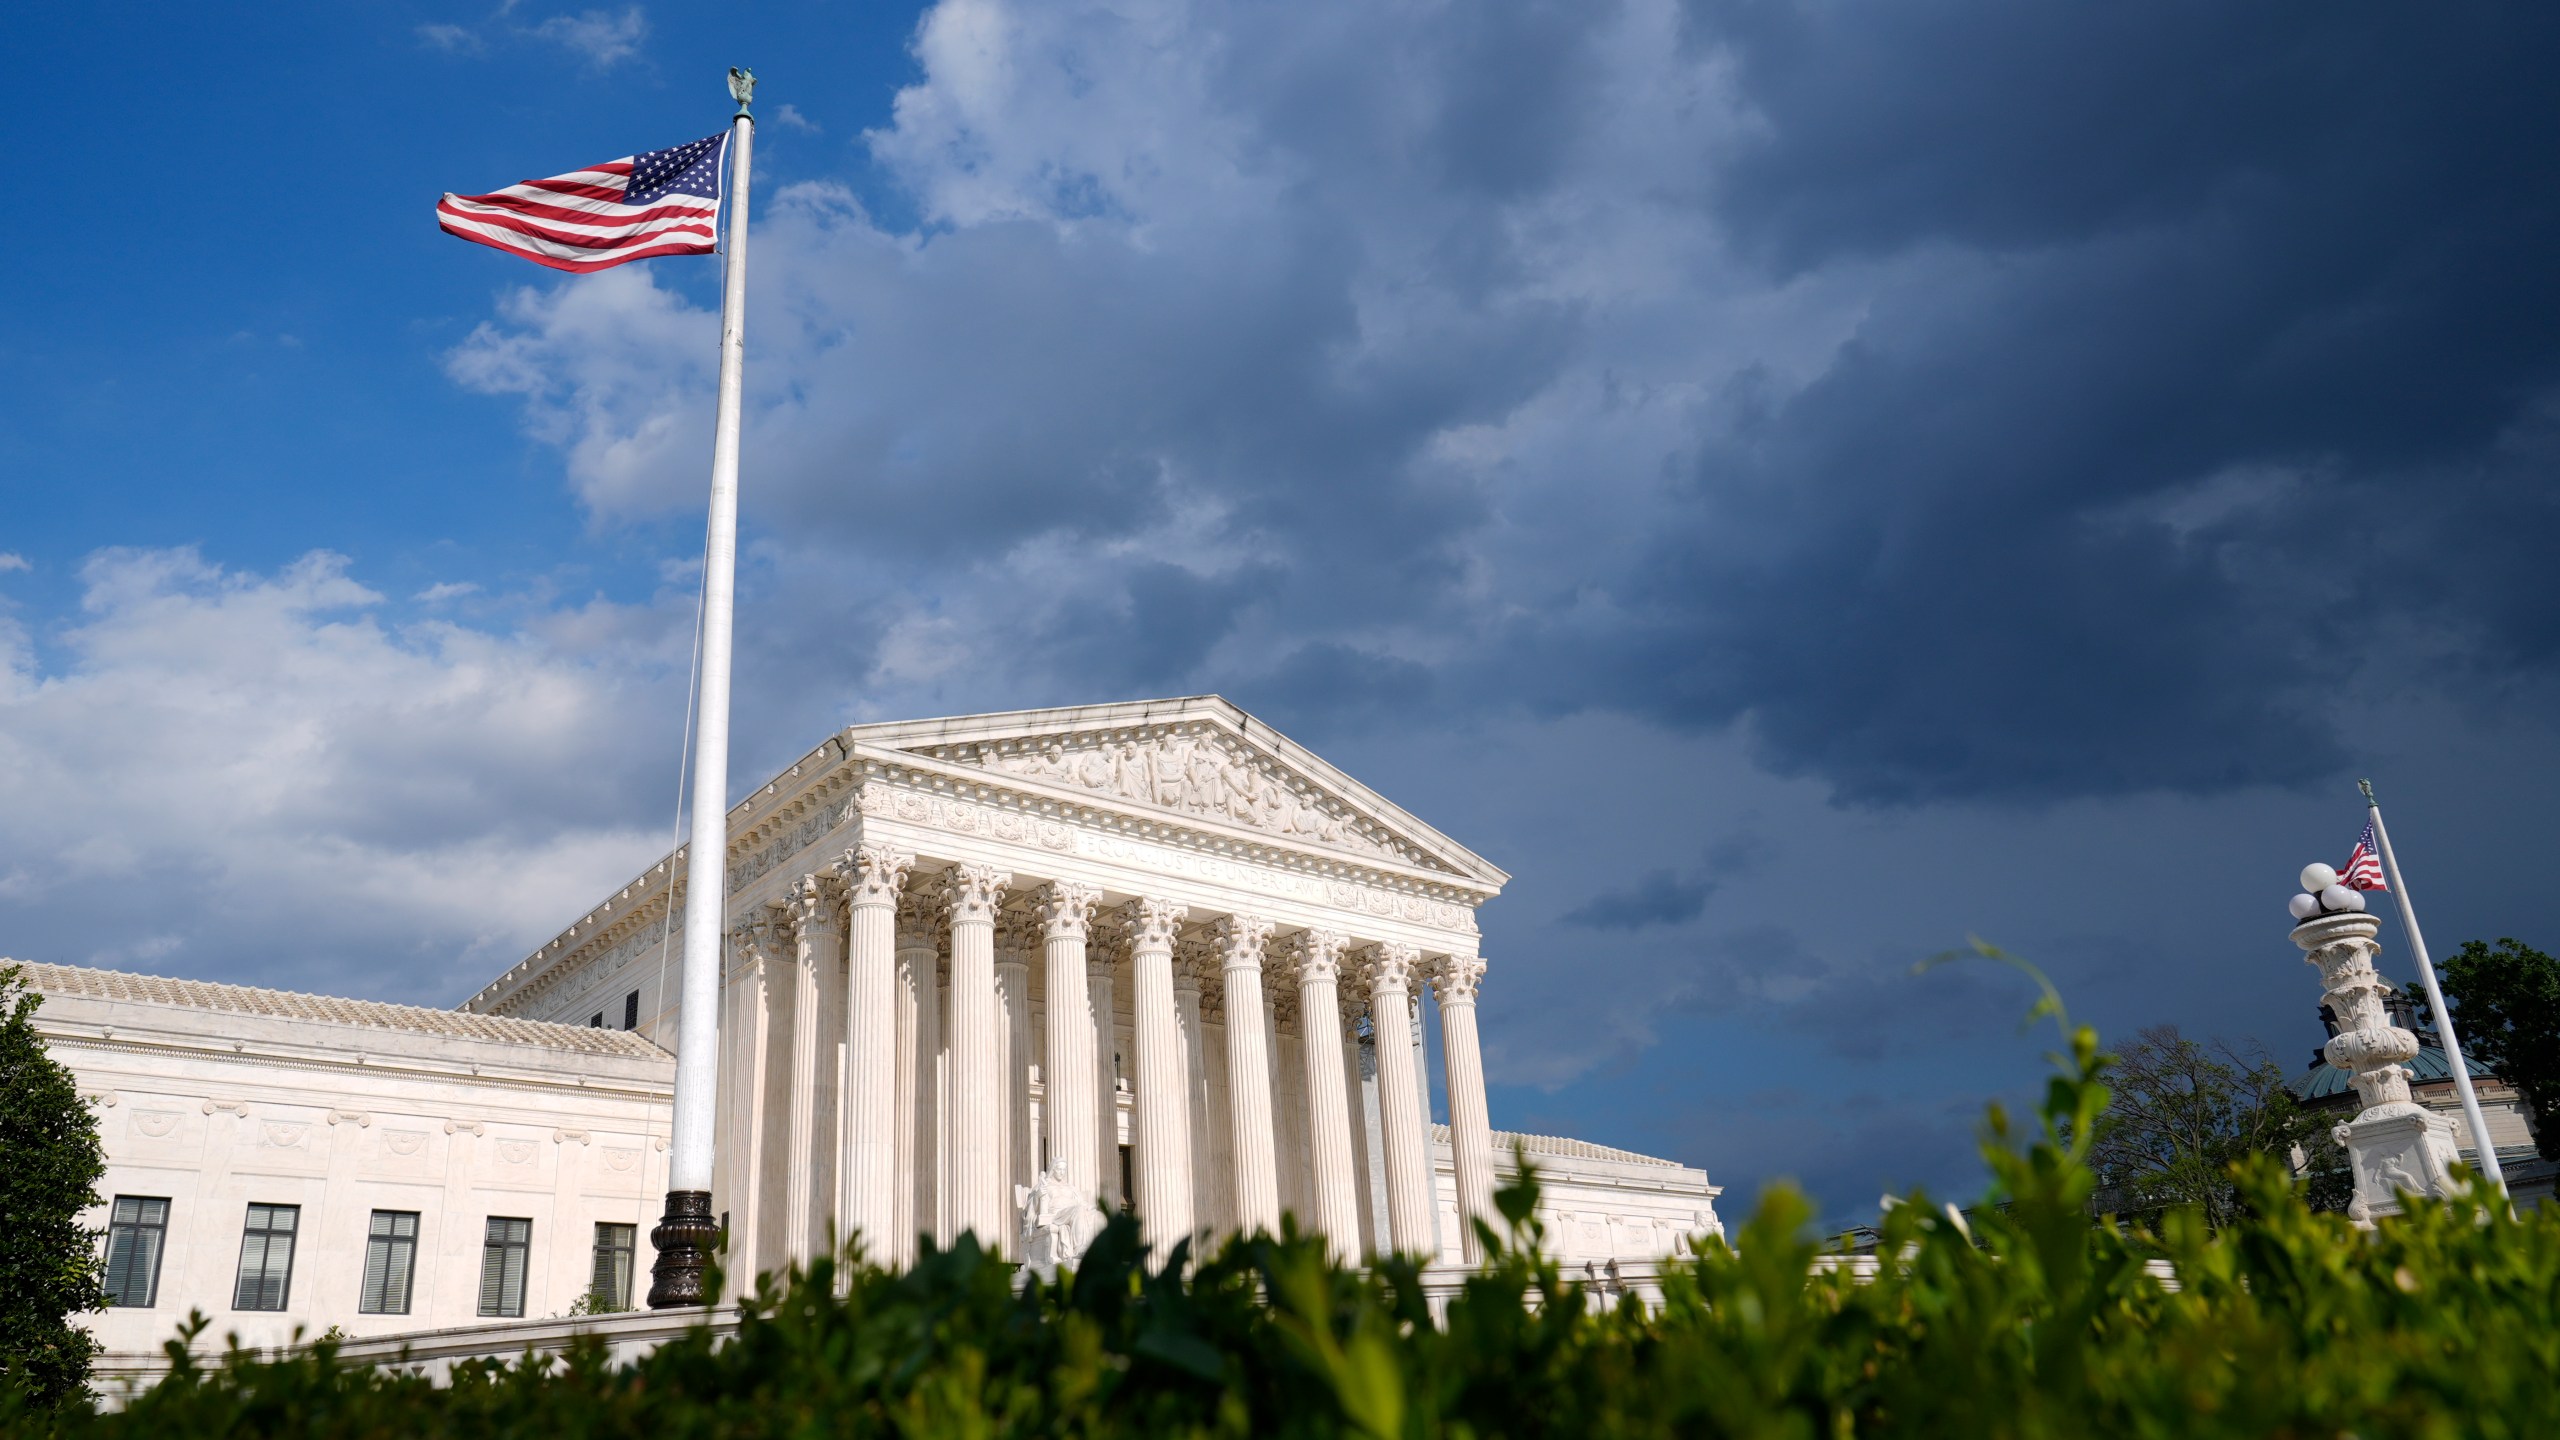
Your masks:
M392 625L328 553L105 551L82 587L59 666L0 620L18 958L451 1002L663 843L684 615L581 651Z

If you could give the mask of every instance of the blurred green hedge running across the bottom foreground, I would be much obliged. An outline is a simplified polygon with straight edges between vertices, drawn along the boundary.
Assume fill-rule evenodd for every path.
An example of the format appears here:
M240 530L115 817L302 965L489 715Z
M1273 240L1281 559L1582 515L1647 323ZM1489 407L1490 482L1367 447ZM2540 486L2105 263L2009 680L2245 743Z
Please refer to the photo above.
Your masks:
M443 1389L338 1363L233 1355L61 1435L2560 1435L2560 1215L2429 1204L2378 1232L2243 1168L2250 1215L2207 1232L2092 1225L2079 1135L2104 1056L2066 1030L2035 1133L1994 1109L1999 1207L1915 1202L1871 1284L1833 1273L1800 1197L1738 1250L1667 1266L1664 1304L1605 1309L1533 1250L1536 1191L1434 1325L1411 1263L1331 1266L1313 1240L1239 1240L1149 1268L1121 1220L1062 1286L1014 1294L963 1243L909 1273L817 1266L732 1343L614 1368L463 1366ZM1900 1256L1900 1263L1892 1258ZM2163 1289L2145 1261L2176 1266Z

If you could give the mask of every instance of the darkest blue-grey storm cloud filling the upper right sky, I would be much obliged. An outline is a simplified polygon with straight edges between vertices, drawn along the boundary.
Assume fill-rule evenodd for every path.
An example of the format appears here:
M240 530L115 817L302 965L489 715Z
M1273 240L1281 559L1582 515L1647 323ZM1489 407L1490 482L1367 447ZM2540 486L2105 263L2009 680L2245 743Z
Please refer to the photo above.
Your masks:
M2547 661L2550 13L1692 26L1766 120L1725 225L1774 274L1897 264L1531 669L1912 802L2330 774L2378 618ZM2250 469L2296 484L2179 512ZM2378 551L2432 574L2360 579Z

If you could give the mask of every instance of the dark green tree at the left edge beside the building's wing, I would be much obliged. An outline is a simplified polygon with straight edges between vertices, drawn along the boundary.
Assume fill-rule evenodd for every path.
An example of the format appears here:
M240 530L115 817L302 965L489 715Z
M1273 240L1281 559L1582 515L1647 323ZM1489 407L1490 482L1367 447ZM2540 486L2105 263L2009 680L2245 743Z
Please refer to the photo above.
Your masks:
M108 1174L97 1115L36 1035L44 997L0 966L0 1389L38 1407L87 1396L97 1338L72 1325L102 1309L100 1230L79 1222Z

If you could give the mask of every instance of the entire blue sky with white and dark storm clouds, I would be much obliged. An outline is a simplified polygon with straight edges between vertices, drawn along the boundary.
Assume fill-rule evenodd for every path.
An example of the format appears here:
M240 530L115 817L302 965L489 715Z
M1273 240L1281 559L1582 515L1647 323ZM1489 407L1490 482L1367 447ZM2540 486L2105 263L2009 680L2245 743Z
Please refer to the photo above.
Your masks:
M2560 943L2560 13L18 8L0 953L453 1004L668 846L717 261L443 190L755 67L732 776L1219 692L1516 879L1498 1127L1981 1186L2025 979L2319 1040L2371 776ZM2409 979L2386 930L2383 971Z

